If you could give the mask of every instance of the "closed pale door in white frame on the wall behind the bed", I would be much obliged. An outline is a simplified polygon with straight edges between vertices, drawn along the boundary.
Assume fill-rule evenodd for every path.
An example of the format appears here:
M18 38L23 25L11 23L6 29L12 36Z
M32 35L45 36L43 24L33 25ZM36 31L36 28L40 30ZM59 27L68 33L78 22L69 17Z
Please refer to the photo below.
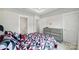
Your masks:
M27 33L27 18L20 17L20 33L26 34Z

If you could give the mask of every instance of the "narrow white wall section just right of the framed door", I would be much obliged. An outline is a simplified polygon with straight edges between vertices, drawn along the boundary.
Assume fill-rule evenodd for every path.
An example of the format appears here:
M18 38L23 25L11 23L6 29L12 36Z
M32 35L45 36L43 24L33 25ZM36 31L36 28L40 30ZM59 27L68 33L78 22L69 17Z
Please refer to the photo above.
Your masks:
M39 20L39 16L28 17L28 33L37 32L36 20Z

